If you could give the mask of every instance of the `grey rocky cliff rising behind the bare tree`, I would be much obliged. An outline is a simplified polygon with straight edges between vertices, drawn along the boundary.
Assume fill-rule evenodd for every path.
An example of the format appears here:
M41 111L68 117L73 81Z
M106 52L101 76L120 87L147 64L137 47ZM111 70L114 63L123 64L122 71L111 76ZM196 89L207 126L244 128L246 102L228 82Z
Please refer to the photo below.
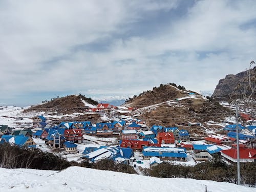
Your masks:
M250 69L251 77L256 77L256 67ZM230 99L230 98L240 98L241 97L241 89L238 89L238 85L242 84L244 87L244 82L248 82L248 70L240 72L236 75L226 75L224 79L220 79L218 85L214 93L212 94L212 98L218 99ZM248 86L248 83L246 84Z

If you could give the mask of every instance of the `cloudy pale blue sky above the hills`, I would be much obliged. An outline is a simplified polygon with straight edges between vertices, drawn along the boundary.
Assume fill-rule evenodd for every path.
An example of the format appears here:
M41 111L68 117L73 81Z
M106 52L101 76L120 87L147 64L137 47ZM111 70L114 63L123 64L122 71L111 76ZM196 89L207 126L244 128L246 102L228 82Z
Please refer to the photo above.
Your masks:
M0 104L160 83L214 91L255 59L256 2L0 1Z

